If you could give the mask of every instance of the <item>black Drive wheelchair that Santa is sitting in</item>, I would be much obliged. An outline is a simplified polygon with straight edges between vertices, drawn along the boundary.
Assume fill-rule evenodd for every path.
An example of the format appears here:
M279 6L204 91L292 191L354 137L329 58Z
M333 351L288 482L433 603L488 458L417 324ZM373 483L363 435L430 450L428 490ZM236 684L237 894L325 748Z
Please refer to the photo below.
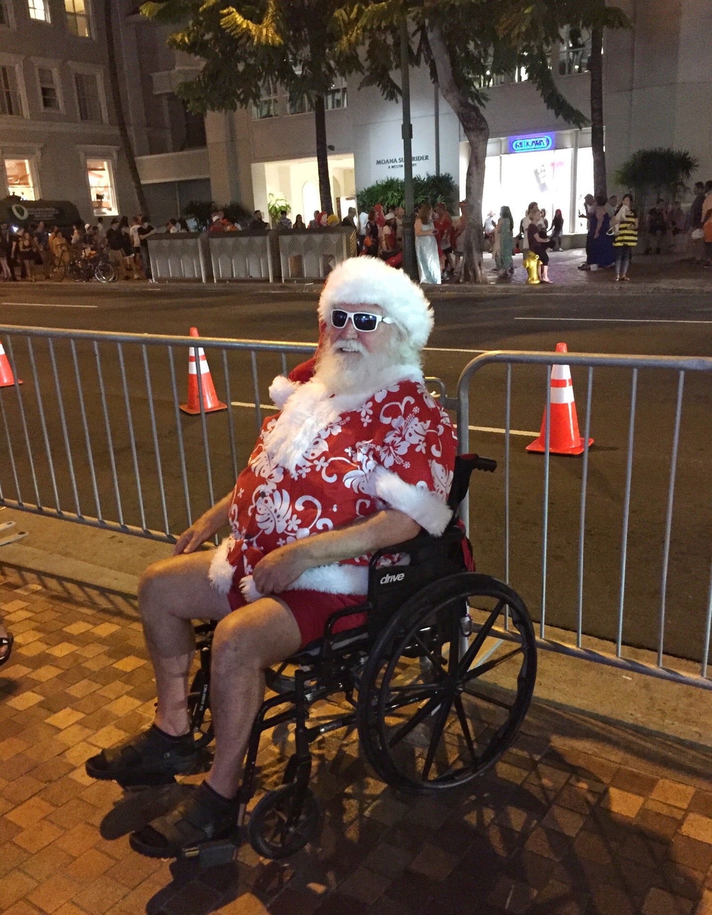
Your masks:
M309 788L309 746L340 728L355 725L379 778L409 794L456 789L502 757L534 692L534 627L512 588L471 571L471 547L455 513L472 470L495 468L495 461L477 455L458 457L448 499L453 518L445 533L421 532L373 554L364 604L334 613L323 639L265 672L274 695L254 720L235 833L184 849L184 857L199 858L201 867L227 863L245 835L259 855L273 859L312 841L320 813ZM407 557L407 565L383 565L383 556L394 554ZM356 613L366 614L362 626L334 633L341 617ZM215 625L195 627L200 669L189 690L189 716L199 748L213 737ZM348 710L310 725L310 707L334 694L343 694ZM295 752L282 785L267 791L246 818L260 738L280 725L294 727Z

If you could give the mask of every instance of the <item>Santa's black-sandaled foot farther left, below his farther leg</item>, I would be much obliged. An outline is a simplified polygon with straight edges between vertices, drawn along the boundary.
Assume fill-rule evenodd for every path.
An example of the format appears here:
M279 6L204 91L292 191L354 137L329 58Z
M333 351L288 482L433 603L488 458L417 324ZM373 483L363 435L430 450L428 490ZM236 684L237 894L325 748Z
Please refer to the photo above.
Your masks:
M192 734L171 737L151 725L118 747L87 759L85 769L92 779L118 781L124 786L155 785L174 775L185 775L197 761Z

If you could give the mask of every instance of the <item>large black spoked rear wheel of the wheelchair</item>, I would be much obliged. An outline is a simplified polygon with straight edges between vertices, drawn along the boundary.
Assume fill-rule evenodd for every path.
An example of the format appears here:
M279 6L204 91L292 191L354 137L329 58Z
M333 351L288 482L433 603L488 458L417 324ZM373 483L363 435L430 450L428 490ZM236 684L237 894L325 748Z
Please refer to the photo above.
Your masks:
M490 576L448 576L411 597L376 641L359 690L361 747L402 791L464 784L512 743L535 679L522 598Z

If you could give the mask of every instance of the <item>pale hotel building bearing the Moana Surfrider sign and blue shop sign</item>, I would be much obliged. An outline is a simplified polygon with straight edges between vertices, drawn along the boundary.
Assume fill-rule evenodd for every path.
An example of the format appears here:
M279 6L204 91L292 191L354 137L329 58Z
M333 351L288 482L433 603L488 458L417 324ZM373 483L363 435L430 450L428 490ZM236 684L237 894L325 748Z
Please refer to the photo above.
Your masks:
M704 66L712 34L709 0L620 0L633 28L608 32L604 45L604 114L610 192L614 175L636 150L686 149L699 160L696 179L712 178L712 70ZM556 83L569 102L590 113L586 35L566 33L552 48ZM577 130L546 109L522 69L487 88L490 144L483 210L506 204L515 218L531 200L551 216L562 210L566 232L581 231L581 201L593 188L590 130ZM345 204L357 188L403 177L401 108L359 78L334 89L327 112L332 196ZM464 196L469 145L457 118L425 69L411 74L416 175L448 172ZM313 114L265 87L251 111L206 120L212 197L241 199L264 210L285 197L292 217L318 209ZM343 208L340 207L340 210Z

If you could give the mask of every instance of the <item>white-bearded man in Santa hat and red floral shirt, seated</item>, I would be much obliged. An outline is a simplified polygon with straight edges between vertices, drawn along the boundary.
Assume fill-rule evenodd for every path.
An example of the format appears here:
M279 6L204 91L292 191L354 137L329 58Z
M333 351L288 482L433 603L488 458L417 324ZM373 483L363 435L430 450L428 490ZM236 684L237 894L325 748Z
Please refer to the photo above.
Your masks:
M424 385L421 353L433 326L426 297L403 272L352 258L329 274L318 317L313 376L275 379L280 412L264 422L234 489L141 580L156 720L89 759L93 778L138 784L194 767L190 620L220 620L210 675L214 762L188 801L131 836L145 855L176 856L230 832L264 668L323 636L336 610L364 602L372 553L421 528L437 536L450 520L456 438ZM200 548L227 523L232 533L217 550ZM342 629L361 622L359 614L340 619Z

